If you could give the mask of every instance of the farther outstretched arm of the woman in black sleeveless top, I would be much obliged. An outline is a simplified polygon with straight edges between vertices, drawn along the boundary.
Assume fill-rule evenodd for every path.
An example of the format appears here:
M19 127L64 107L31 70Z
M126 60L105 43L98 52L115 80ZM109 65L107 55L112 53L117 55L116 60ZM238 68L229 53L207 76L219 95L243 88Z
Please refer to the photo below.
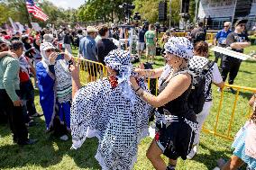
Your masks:
M164 67L156 68L156 69L141 69L135 68L134 72L138 73L139 76L145 76L149 78L159 78L163 72Z

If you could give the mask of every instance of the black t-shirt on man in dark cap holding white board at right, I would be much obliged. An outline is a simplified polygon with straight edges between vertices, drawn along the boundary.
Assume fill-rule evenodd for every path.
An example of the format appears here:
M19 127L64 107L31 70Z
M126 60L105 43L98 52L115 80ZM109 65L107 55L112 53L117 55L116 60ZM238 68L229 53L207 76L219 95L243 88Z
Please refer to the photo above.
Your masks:
M238 34L236 32L231 32L230 34L228 34L227 38L226 38L226 45L227 47L230 46L233 42L246 42L249 41L248 36L246 34ZM236 52L243 52L243 49L232 49Z

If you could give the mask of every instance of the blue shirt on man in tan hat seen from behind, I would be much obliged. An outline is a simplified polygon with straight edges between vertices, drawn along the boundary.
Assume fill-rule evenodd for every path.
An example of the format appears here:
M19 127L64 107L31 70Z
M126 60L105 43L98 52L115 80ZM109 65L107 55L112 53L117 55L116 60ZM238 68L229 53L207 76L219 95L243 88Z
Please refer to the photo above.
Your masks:
M88 60L97 61L96 40L90 36L84 37L79 43L79 54Z

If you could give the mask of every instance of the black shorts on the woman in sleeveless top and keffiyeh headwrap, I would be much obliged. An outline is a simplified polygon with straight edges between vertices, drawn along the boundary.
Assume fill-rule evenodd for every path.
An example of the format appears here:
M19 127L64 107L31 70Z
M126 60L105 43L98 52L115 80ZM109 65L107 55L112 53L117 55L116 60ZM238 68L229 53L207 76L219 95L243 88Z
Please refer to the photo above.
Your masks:
M178 157L183 160L187 159L194 138L195 132L184 119L171 122L167 127L159 130L155 136L157 145L162 150L163 155L174 160Z

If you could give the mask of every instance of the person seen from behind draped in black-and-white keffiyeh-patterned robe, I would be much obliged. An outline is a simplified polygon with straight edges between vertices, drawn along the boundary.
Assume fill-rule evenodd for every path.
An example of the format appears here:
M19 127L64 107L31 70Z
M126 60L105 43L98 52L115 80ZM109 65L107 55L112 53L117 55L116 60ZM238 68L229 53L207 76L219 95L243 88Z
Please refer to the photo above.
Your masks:
M75 94L71 107L72 148L87 138L99 140L96 159L102 169L133 169L138 144L147 135L151 106L133 92L128 52L114 49L105 57L109 76L89 83ZM79 87L73 71L73 88ZM78 73L78 70L77 70ZM141 79L138 83L146 90Z

